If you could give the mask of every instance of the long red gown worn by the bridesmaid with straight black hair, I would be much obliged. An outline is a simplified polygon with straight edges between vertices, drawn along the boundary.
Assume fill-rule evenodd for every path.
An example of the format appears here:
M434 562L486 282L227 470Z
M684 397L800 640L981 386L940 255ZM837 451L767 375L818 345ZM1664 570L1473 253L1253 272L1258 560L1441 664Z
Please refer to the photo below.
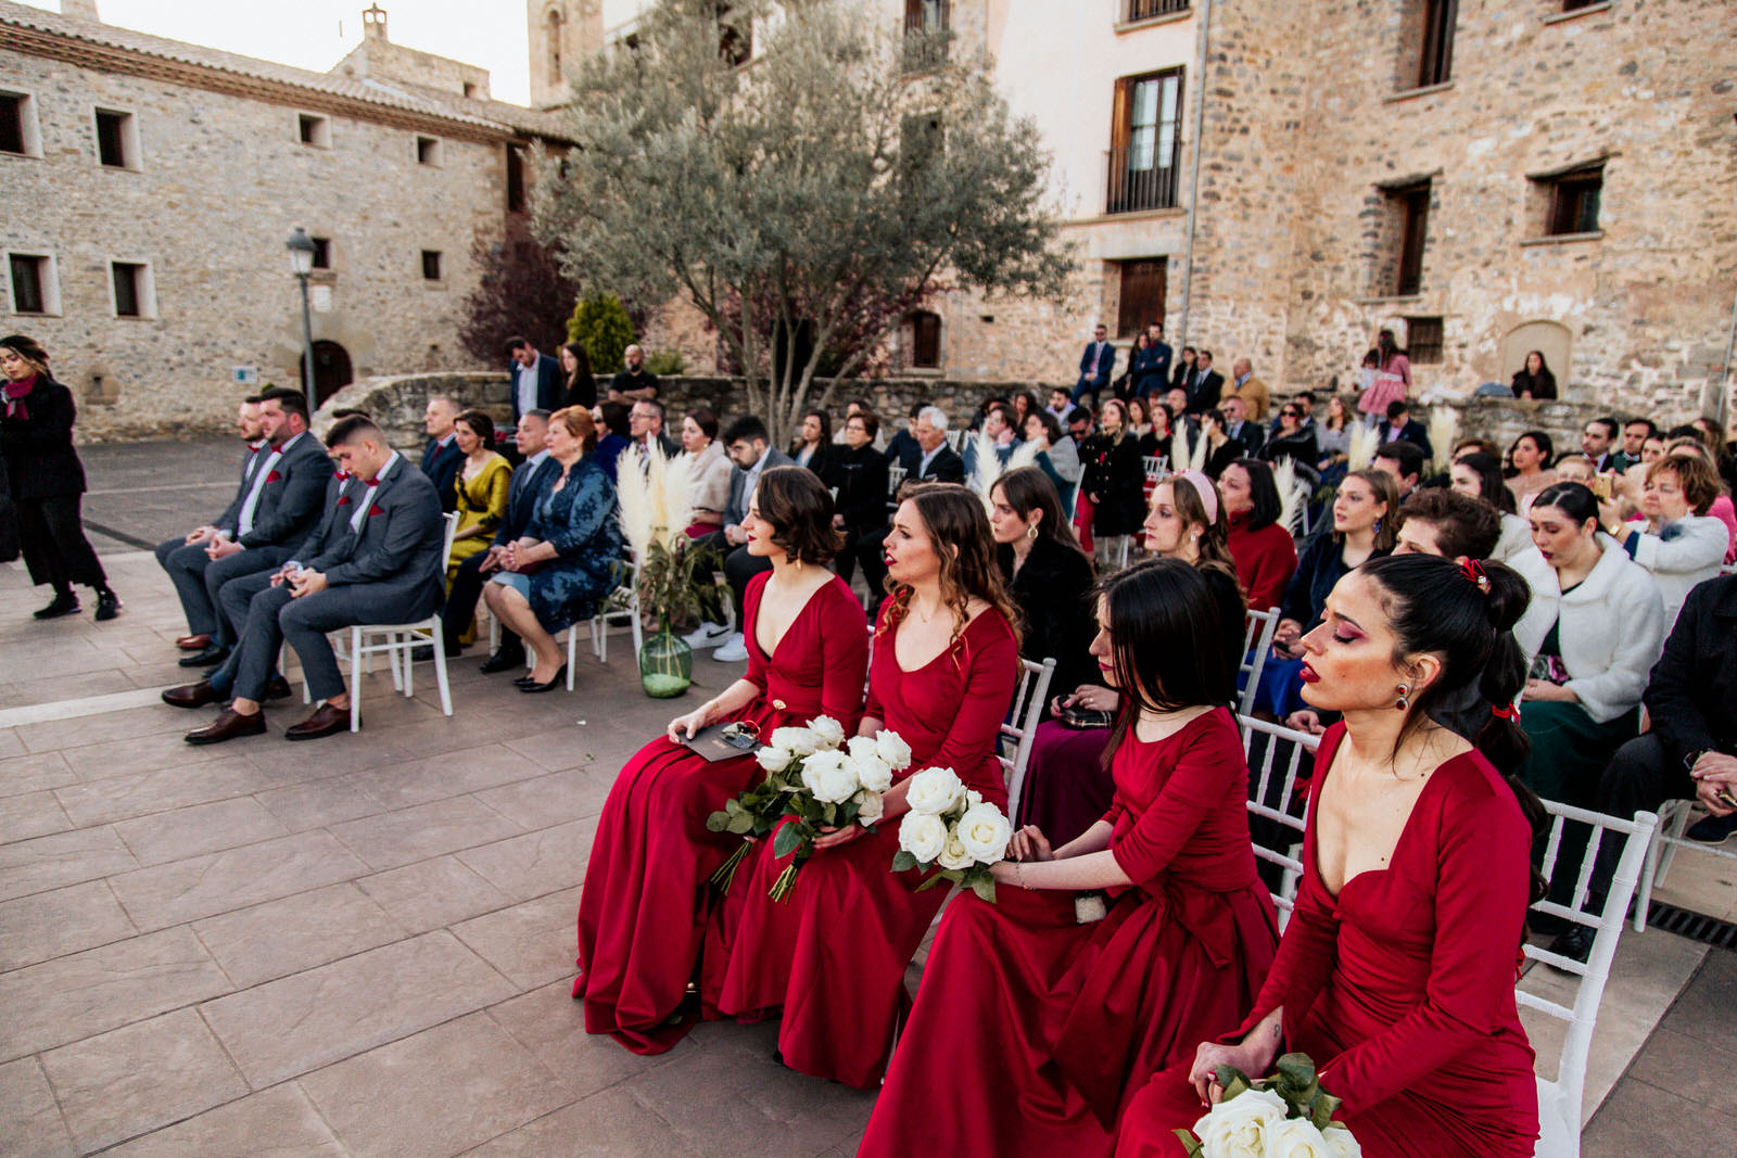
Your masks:
M941 918L860 1156L1103 1155L1145 1080L1228 1031L1278 922L1249 845L1249 769L1216 708L1122 740L1110 852L1136 882L1077 924L1073 892L999 885Z

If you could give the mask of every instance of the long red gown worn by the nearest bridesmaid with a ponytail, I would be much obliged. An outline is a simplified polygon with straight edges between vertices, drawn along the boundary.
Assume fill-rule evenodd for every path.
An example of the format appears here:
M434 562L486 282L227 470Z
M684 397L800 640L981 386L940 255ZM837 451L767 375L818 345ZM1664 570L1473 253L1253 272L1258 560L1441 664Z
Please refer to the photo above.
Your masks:
M1303 885L1273 972L1240 1040L1284 1005L1287 1050L1320 1083L1369 1158L1523 1158L1537 1139L1532 1045L1515 1009L1532 832L1483 755L1442 764L1412 806L1393 863L1334 898L1315 859L1320 788L1344 724L1322 736L1303 839ZM1181 1155L1171 1132L1202 1113L1188 1057L1122 1120L1119 1158Z

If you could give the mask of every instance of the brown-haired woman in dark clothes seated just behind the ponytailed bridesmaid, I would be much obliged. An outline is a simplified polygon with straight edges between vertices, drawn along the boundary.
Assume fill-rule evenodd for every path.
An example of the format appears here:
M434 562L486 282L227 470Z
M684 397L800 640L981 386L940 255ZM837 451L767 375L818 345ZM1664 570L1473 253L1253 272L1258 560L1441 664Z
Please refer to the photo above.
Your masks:
M1327 595L1346 571L1393 550L1400 493L1386 470L1353 470L1339 483L1332 500L1332 533L1304 549L1296 575L1285 587L1273 655L1261 668L1256 707L1282 720L1301 705L1303 644L1325 615Z

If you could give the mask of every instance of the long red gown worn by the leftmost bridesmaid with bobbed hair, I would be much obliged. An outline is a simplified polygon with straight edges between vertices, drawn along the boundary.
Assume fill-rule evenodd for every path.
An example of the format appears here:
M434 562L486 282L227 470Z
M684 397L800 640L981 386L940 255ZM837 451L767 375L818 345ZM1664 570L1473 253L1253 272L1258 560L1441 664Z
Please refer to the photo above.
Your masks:
M749 580L743 601L747 679L763 694L735 719L752 720L761 736L822 714L855 731L868 667L862 604L834 576L768 656L754 635L768 578ZM709 832L705 818L763 774L752 753L707 764L658 736L617 776L578 899L573 997L585 998L587 1031L636 1054L662 1054L688 1031L691 1017L670 1017L695 979L712 908L707 878L740 840Z

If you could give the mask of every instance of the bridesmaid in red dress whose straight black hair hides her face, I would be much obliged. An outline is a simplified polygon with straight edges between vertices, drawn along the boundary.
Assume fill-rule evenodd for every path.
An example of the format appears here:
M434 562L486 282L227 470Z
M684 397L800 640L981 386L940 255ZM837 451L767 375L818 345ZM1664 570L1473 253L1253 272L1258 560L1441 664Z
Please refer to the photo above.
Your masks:
M1235 1026L1273 964L1218 594L1153 559L1103 585L1098 625L1115 800L1054 851L1023 828L997 903L947 910L858 1155L1108 1158L1127 1097ZM1108 911L1080 924L1096 891Z

